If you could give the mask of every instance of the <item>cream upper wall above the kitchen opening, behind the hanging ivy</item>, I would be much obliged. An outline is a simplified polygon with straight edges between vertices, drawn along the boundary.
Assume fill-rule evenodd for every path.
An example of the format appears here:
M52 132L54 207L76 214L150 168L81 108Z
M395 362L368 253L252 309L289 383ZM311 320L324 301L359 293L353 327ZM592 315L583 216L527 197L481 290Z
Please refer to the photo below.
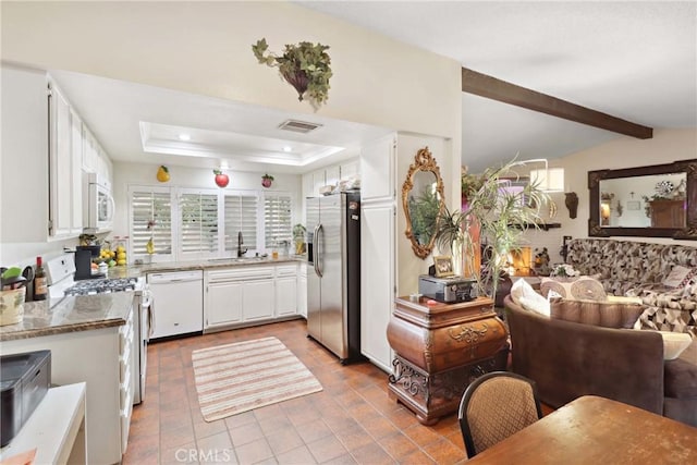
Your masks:
M1 21L3 60L306 113L250 46L319 41L334 75L318 113L460 137L460 63L296 4L3 2Z

